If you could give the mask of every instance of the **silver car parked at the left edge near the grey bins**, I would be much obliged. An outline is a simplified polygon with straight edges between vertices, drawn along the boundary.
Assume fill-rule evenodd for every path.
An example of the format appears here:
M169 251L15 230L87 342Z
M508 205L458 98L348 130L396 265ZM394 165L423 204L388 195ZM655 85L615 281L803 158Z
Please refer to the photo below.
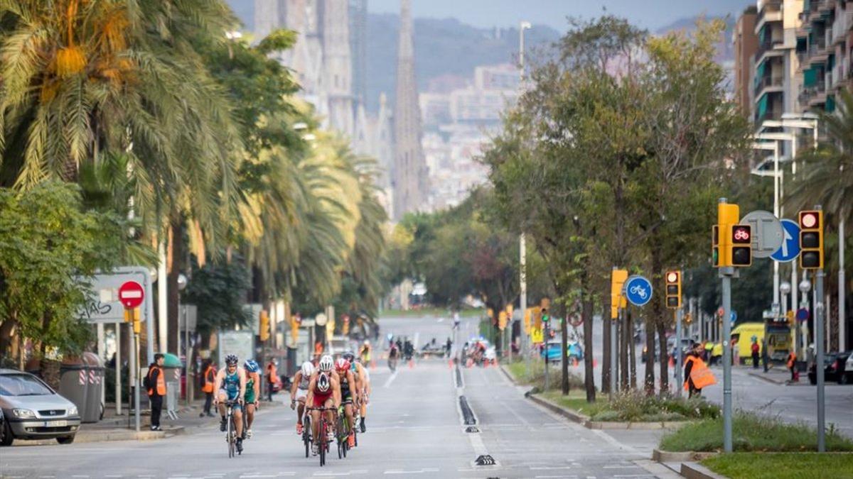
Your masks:
M0 369L0 409L3 446L15 439L56 439L71 444L80 427L74 403L29 372Z

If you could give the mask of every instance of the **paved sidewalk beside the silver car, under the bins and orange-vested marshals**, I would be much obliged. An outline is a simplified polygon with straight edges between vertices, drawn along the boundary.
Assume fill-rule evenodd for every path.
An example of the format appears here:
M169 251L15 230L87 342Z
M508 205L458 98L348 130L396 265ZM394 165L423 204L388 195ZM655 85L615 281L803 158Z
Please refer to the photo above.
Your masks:
M281 402L282 395L276 395L273 402L261 401L258 405L258 413L270 408L284 407ZM129 409L122 408L122 414L116 415L115 405L107 404L101 421L91 424L80 424L74 442L104 442L104 441L154 441L182 434L193 434L199 428L218 424L218 413L213 411L214 417L199 417L204 408L203 400L192 401L188 406L181 401L177 410L177 419L171 419L163 412L160 417L161 431L150 430L151 416L147 409L142 410L139 416L139 431L135 430L136 416ZM128 416L128 413L131 413ZM43 439L38 441L15 440L15 446L49 446L55 445L54 439Z

